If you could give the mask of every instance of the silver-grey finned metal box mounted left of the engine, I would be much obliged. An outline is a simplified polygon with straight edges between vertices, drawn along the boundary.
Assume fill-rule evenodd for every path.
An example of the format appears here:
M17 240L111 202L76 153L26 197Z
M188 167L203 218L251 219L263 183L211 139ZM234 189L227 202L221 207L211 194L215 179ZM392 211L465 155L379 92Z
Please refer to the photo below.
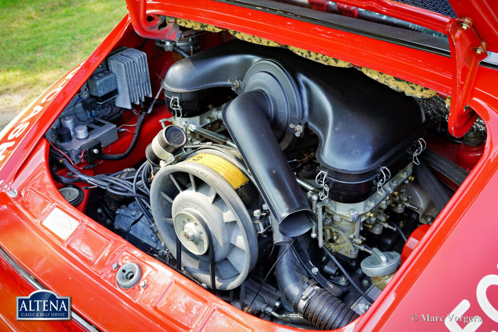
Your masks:
M133 48L126 48L108 58L109 69L116 75L118 96L116 106L131 109L144 97L152 97L147 55Z

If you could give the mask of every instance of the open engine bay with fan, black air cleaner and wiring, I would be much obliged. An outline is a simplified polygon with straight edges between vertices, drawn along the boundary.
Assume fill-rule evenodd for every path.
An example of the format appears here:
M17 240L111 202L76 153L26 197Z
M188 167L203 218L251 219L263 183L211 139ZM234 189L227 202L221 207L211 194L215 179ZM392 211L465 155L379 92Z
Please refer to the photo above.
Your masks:
M443 96L173 28L174 40L125 36L52 124L55 186L240 310L346 326L477 164L484 122L455 138ZM140 281L128 264L122 289Z

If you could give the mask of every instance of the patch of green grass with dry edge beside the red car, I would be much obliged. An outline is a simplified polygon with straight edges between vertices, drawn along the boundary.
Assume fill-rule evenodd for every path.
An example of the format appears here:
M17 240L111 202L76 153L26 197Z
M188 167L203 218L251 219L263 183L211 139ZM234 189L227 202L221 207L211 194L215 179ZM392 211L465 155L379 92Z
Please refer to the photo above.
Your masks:
M0 111L22 110L125 13L125 0L0 0Z

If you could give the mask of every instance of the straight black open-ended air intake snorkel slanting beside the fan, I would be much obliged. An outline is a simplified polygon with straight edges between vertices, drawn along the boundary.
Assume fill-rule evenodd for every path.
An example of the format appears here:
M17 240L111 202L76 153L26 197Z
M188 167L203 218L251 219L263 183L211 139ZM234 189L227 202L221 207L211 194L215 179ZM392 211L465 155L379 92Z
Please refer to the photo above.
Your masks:
M248 166L280 232L297 236L312 226L311 211L271 130L273 106L262 90L237 97L223 120Z

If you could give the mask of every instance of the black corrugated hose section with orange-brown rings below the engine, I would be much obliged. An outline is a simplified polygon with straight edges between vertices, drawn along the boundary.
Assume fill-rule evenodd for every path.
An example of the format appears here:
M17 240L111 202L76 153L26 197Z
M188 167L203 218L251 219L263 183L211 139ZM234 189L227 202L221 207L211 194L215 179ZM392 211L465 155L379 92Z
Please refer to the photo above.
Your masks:
M329 291L321 288L304 307L303 317L320 330L342 328L359 315Z

